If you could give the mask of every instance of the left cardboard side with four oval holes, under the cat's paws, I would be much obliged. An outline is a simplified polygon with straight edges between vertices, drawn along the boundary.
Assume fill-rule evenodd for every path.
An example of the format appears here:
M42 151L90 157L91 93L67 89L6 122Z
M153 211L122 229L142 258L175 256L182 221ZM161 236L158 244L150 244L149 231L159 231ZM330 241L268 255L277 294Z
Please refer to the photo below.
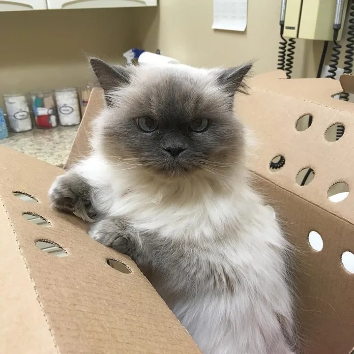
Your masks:
M92 240L88 225L79 218L50 207L48 189L63 173L61 169L6 148L0 148L0 155L0 198L6 210L3 217L0 209L0 238L1 245L6 238L12 244L1 248L5 257L0 257L0 267L8 269L10 255L17 264L26 262L27 268L25 272L23 265L12 277L0 272L1 305L24 317L14 321L1 312L1 332L7 330L1 336L1 341L7 338L0 343L1 353L200 353L129 257ZM26 203L14 191L38 202ZM31 223L24 213L50 224ZM38 240L59 245L67 256L41 251L35 245ZM124 272L109 266L107 259L118 260ZM24 288L19 290L19 285ZM27 299L24 294L31 296ZM26 325L29 321L31 326ZM16 338L21 342L29 336L34 340L24 342L26 349L17 351Z

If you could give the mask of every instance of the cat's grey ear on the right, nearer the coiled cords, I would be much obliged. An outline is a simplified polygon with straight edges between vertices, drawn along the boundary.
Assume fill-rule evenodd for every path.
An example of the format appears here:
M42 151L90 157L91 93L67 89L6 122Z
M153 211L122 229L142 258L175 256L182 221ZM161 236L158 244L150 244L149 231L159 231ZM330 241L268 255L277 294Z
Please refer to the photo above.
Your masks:
M216 73L217 83L230 96L234 96L236 92L247 94L247 84L244 82L245 77L249 74L253 62L248 62L240 66L218 70Z

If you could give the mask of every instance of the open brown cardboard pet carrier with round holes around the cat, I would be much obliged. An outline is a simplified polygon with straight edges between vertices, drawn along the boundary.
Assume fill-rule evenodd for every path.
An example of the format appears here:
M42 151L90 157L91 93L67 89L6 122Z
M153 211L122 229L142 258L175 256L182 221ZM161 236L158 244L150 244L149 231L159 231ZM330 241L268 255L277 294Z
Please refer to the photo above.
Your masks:
M345 90L353 91L352 79L342 77ZM255 186L297 249L301 353L348 354L354 104L332 97L342 88L331 79L287 80L277 71L250 86L236 112L260 143L247 161ZM94 89L66 168L89 153L89 122L103 104ZM0 353L200 353L128 257L50 208L47 191L61 169L5 148L0 156Z

